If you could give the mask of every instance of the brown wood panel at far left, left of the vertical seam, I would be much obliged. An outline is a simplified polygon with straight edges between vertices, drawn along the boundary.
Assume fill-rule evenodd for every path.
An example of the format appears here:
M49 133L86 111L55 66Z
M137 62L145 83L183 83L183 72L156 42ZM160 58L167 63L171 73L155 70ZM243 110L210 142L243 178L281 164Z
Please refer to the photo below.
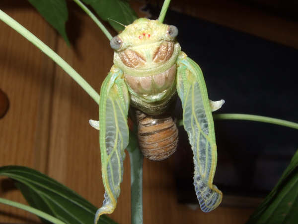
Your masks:
M0 8L50 47L55 46L56 33L27 2L4 0ZM0 119L0 165L45 171L54 63L3 22L0 33L0 89L10 103L7 114ZM1 178L0 183L0 197L25 203L11 182ZM0 208L0 222L38 220L12 207Z

